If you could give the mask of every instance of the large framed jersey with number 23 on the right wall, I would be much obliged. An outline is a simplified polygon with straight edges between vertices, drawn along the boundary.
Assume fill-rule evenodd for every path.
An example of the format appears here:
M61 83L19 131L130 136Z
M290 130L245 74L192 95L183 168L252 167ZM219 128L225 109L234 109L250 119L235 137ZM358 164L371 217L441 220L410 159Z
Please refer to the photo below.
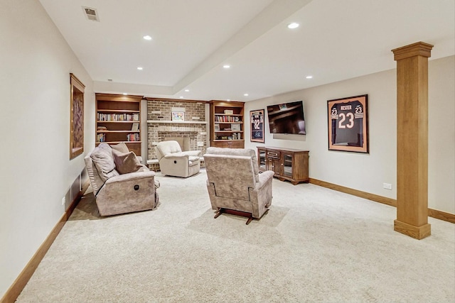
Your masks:
M369 153L368 95L327 101L328 150Z

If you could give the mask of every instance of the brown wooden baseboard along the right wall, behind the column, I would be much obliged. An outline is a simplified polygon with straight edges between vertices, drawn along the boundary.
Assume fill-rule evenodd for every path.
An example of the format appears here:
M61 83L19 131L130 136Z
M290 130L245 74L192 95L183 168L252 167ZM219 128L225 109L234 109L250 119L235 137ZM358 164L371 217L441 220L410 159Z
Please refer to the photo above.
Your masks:
M333 184L333 183L329 183L329 182L325 182L325 181L321 181L321 180L317 180L317 179L313 179L313 178L310 178L309 182L311 184L315 184L315 185L319 185L321 187L326 187L326 188L329 188L329 189L333 189L333 190L336 190L338 192L344 192L346 194L352 194L353 196L356 196L356 197L360 197L360 198L368 199L368 200L371 200L371 201L374 201L374 202L379 202L379 203L382 203L382 204L387 204L387 205L390 205L390 206L397 207L397 200L395 200L395 199L390 199L390 198L378 196L377 194L370 194L368 192L362 192L362 191L357 190L357 189L352 189L352 188L349 188L349 187L343 187L341 185L337 185L337 184ZM442 220L442 221L447 221L447 222L455 224L455 214L449 214L449 213L446 213L444 211L438 211L437 209L428 209L428 216L431 216L434 219L439 219L439 220Z

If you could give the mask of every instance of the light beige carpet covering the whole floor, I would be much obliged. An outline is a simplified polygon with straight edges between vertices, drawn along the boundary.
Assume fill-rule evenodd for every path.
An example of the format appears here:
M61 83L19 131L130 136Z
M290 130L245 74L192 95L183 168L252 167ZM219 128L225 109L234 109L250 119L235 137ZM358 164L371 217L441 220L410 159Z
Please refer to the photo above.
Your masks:
M396 209L274 180L260 221L213 219L205 172L154 211L100 218L85 194L18 302L454 302L455 226L393 231Z

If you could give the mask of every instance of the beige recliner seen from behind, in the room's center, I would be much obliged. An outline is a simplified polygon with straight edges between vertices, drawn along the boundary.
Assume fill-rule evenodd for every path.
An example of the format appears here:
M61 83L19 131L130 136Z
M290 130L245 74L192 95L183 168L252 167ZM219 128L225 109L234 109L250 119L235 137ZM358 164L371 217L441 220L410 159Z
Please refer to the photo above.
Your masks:
M252 149L207 148L204 155L207 189L215 219L223 212L260 219L272 204L274 172L259 174Z

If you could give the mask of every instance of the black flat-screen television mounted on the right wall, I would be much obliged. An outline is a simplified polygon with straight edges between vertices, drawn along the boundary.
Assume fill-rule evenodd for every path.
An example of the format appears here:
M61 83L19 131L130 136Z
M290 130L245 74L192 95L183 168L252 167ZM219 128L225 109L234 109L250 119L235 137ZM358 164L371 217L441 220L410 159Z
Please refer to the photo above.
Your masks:
M306 135L303 101L269 105L267 116L270 133Z

